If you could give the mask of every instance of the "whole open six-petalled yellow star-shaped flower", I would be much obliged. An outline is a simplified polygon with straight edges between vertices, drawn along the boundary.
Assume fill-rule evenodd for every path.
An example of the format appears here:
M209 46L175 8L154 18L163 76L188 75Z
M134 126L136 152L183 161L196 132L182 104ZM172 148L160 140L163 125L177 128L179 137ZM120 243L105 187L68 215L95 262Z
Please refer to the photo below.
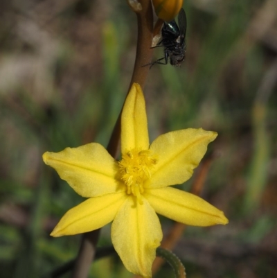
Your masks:
M149 146L143 92L134 84L121 118L120 162L97 143L44 153L44 162L89 198L67 211L51 236L89 232L113 221L111 241L127 270L151 277L162 239L157 214L188 225L228 223L202 198L170 187L190 178L215 137L216 132L189 128L163 134Z

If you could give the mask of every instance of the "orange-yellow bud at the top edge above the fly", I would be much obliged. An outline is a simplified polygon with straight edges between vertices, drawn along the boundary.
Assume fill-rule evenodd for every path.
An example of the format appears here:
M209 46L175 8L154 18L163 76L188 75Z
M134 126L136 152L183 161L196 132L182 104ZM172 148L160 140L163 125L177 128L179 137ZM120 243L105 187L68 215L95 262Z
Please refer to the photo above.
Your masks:
M152 0L156 15L164 21L171 21L178 15L183 0Z

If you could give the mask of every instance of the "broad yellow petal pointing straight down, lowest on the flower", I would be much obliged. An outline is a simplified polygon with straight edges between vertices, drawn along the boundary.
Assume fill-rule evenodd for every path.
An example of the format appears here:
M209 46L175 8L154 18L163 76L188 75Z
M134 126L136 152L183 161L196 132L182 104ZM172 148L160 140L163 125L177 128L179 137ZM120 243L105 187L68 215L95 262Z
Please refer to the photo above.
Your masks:
M156 248L163 234L159 218L148 201L129 196L111 225L111 241L127 270L151 277Z

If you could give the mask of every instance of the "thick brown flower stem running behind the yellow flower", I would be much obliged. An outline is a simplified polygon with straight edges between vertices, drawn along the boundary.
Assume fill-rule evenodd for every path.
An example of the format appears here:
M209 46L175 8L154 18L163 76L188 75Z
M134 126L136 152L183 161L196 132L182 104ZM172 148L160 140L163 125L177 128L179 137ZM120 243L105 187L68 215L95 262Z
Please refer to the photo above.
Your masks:
M138 22L138 41L136 48L136 61L134 64L134 71L129 88L134 82L139 83L143 88L146 78L148 76L149 67L143 67L144 64L148 64L152 58L152 34L153 34L153 12L152 4L150 0L141 0L141 10L136 11ZM129 89L128 89L129 92ZM120 118L121 112L118 116L118 120L111 134L111 139L107 146L107 151L113 157L116 157L118 143L120 139ZM96 245L98 242L98 236L100 229L83 234L82 243L78 253L78 257L75 261L73 270L73 278L86 278L89 273L91 262L96 253Z

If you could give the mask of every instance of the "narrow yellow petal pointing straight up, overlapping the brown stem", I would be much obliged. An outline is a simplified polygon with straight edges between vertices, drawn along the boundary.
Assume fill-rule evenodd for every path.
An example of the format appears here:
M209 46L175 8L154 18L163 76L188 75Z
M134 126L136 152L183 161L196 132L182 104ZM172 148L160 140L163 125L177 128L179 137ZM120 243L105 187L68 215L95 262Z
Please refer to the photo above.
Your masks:
M136 83L130 89L121 116L121 152L134 148L149 148L145 101L141 86Z

